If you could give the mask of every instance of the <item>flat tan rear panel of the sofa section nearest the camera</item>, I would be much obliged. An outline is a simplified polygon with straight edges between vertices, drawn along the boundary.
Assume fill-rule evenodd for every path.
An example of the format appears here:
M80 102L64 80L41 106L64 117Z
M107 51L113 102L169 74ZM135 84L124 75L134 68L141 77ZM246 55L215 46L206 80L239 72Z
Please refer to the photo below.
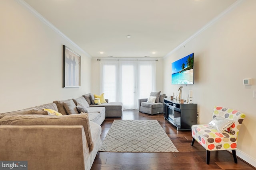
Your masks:
M0 160L26 160L29 169L90 169L81 125L1 125L0 135Z

